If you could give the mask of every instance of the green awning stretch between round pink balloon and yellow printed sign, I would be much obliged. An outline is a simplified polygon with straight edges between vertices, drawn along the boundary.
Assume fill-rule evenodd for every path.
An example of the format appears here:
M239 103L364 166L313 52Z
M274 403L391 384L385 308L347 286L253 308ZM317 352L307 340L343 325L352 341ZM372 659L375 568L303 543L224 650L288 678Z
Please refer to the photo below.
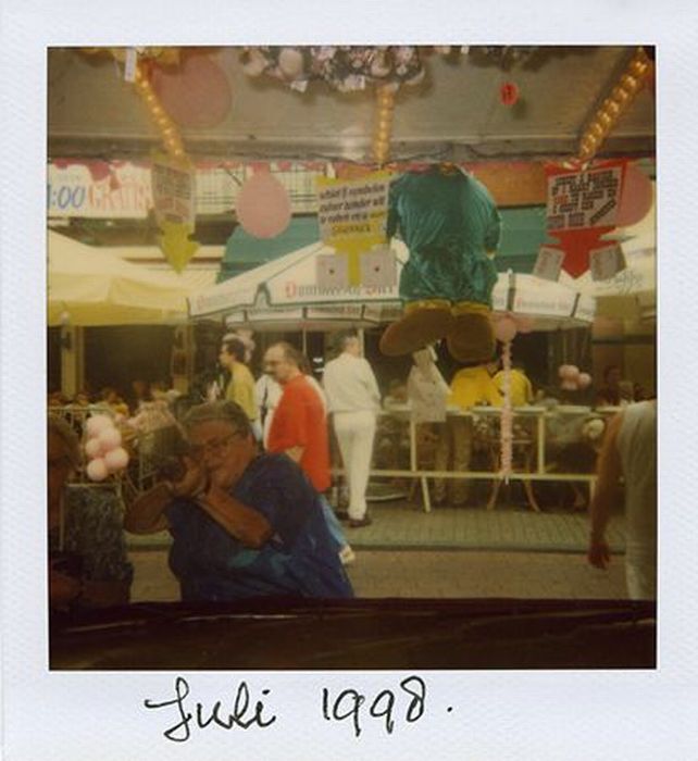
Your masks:
M253 238L237 226L225 244L217 283L320 240L317 217L296 216L275 238Z

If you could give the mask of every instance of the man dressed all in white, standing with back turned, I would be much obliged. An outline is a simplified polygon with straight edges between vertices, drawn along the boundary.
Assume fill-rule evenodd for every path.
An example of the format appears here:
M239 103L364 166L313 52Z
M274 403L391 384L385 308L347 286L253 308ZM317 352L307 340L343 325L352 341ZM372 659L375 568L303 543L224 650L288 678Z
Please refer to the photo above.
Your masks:
M323 386L349 484L349 527L360 528L371 523L366 486L381 391L371 365L361 357L358 336L341 334L338 348L339 357L325 365Z

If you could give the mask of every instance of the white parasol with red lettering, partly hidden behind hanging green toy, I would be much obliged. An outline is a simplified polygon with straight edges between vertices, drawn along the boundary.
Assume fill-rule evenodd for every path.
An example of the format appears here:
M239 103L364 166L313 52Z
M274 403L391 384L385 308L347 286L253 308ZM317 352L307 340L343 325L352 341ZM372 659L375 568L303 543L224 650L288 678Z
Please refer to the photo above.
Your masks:
M392 241L397 274L407 249ZM225 317L229 325L257 329L325 329L337 323L369 326L395 320L401 312L394 286L349 288L317 285L317 258L334 249L316 242L192 295L192 317ZM500 274L493 294L495 311L514 311L534 319L537 329L572 327L594 319L595 301L558 283L532 275Z

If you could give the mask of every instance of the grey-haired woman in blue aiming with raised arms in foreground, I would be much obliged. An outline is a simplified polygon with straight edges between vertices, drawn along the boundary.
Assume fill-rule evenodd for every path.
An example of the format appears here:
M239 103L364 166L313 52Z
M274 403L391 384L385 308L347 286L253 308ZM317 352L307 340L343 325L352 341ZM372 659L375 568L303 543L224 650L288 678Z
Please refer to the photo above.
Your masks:
M127 509L125 528L169 528L182 599L348 598L353 592L317 492L285 454L259 454L235 402L192 408L175 481Z

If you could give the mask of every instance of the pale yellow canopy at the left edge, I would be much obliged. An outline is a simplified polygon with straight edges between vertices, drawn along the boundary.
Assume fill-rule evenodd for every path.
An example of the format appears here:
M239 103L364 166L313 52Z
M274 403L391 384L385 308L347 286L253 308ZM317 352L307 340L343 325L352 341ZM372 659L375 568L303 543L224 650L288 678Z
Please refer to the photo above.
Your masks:
M48 323L144 325L184 322L189 288L169 272L48 232Z

